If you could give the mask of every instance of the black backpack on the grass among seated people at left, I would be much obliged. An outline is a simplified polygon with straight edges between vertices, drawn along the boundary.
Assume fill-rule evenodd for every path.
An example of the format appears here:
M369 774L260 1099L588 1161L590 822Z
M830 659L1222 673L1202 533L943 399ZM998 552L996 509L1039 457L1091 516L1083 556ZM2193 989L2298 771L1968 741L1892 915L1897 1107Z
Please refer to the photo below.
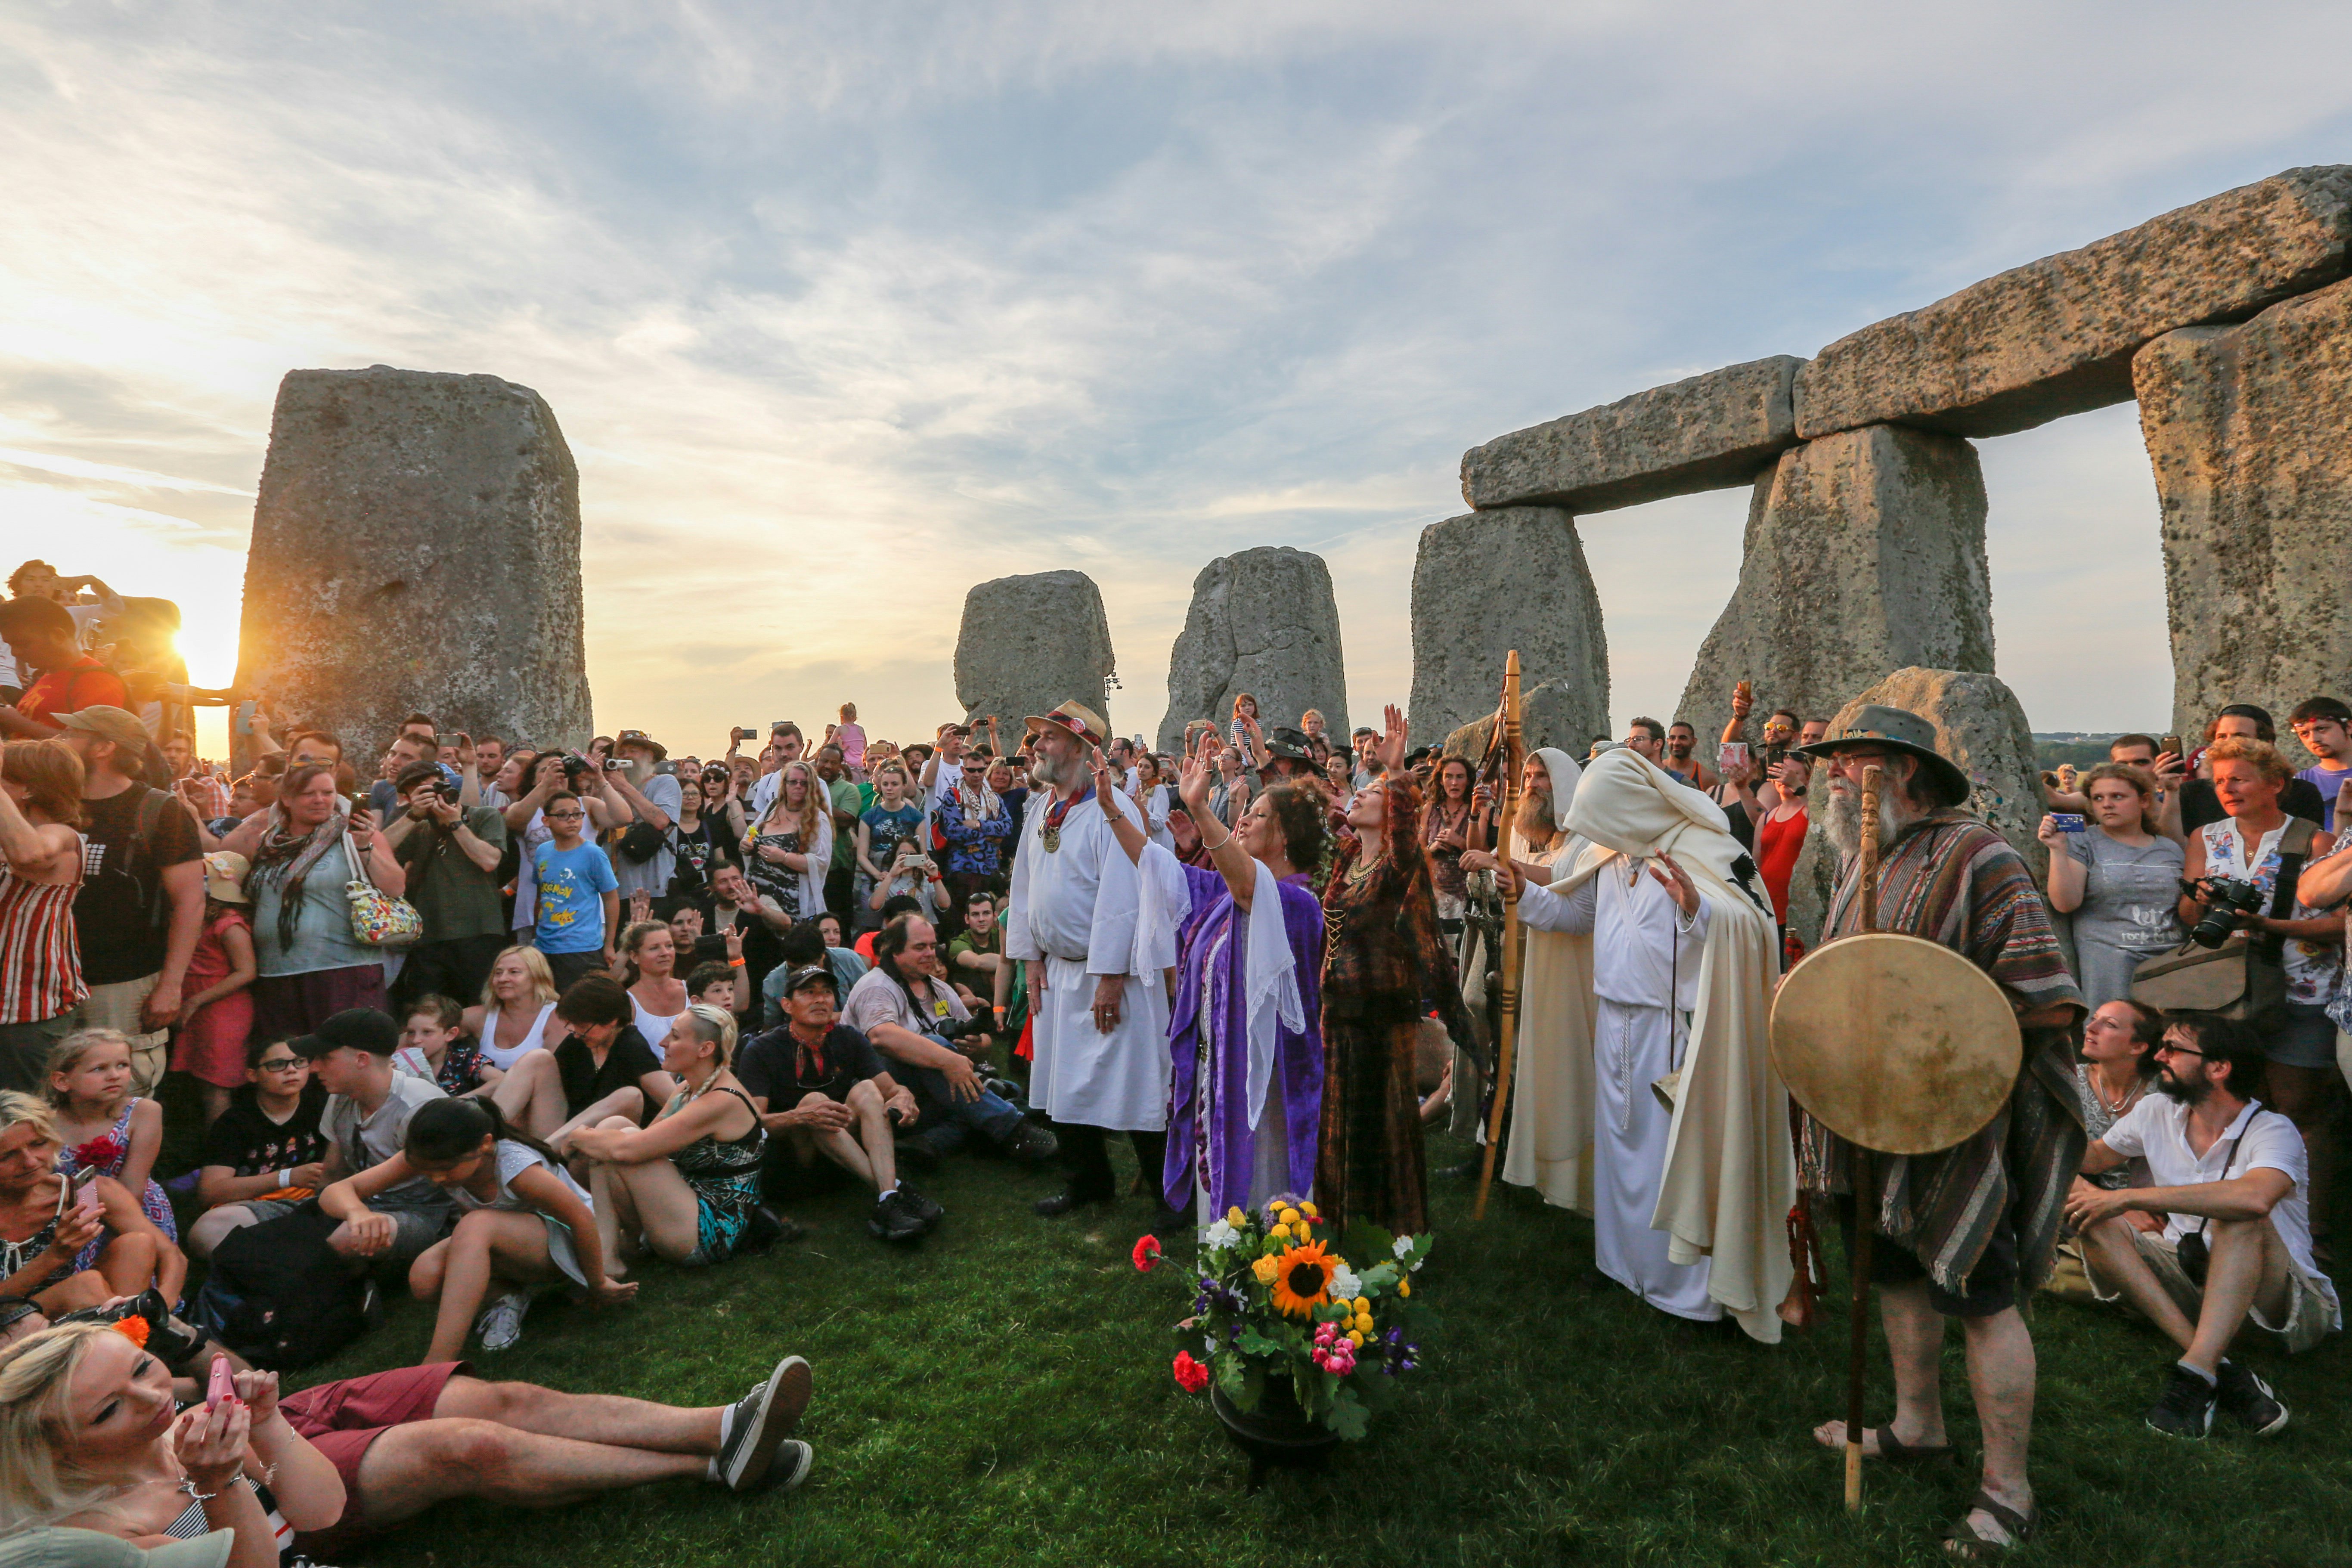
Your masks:
M268 1371L315 1366L369 1328L369 1284L327 1246L339 1220L310 1199L221 1237L195 1324Z

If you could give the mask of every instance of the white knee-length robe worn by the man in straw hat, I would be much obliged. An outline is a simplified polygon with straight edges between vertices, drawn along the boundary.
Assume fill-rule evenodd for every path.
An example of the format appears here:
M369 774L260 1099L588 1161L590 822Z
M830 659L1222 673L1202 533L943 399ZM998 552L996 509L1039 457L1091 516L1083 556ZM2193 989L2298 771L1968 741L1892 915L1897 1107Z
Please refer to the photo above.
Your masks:
M1157 973L1136 976L1136 865L1120 849L1094 792L1061 820L1061 844L1044 846L1049 795L1021 818L1004 957L1044 959L1044 994L1030 994L1030 1105L1056 1121L1157 1133L1169 1124L1169 997ZM1131 799L1120 813L1136 820ZM1120 1023L1094 1027L1094 985L1124 976Z

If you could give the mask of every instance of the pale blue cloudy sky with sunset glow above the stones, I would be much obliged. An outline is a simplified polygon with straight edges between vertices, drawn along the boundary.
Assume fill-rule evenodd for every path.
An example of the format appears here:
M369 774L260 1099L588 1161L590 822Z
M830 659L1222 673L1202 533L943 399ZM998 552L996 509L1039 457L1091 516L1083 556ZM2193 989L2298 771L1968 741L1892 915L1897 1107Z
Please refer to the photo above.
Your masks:
M226 682L278 378L489 371L579 458L604 731L913 738L964 590L1054 567L1150 731L1249 545L1331 564L1362 717L1465 447L2352 160L2347 45L2253 0L21 0L0 550L176 597ZM2032 726L2161 726L2133 409L1980 451ZM1618 724L1745 505L1581 522Z

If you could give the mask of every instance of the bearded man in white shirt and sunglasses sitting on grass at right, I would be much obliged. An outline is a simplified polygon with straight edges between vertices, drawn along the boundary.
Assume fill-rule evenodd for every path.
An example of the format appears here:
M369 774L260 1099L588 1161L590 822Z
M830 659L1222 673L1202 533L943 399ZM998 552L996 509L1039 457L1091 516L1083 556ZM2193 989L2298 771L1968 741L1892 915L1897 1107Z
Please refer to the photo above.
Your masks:
M2067 1220L2100 1300L2124 1298L2180 1347L2147 1425L2204 1436L2220 1418L2270 1436L2286 1403L2230 1345L2251 1319L2288 1354L2343 1328L2336 1286L2312 1258L2310 1159L2296 1124L2256 1098L2263 1041L2213 1013L2173 1013L2157 1091L2084 1152L2084 1175L2145 1157L2150 1187L2077 1185ZM2164 1215L2164 1229L2129 1222Z

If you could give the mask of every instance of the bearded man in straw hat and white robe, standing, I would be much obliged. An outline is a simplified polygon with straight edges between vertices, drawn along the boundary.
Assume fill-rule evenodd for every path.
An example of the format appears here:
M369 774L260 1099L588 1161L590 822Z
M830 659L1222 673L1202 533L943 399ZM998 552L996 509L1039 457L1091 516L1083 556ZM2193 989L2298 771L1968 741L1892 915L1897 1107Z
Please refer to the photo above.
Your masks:
M1110 1133L1127 1133L1157 1187L1167 1157L1169 999L1160 976L1134 971L1141 889L1091 790L1089 757L1103 719L1084 703L1030 717L1030 797L1014 851L1004 957L1028 973L1035 1020L1030 1105L1054 1119L1070 1185L1037 1201L1056 1218L1117 1197ZM1138 820L1117 795L1120 813ZM1141 825L1141 820L1138 820ZM997 969L997 1001L1011 969ZM1157 1208L1164 1211L1164 1204ZM1181 1222L1160 1213L1157 1222Z

